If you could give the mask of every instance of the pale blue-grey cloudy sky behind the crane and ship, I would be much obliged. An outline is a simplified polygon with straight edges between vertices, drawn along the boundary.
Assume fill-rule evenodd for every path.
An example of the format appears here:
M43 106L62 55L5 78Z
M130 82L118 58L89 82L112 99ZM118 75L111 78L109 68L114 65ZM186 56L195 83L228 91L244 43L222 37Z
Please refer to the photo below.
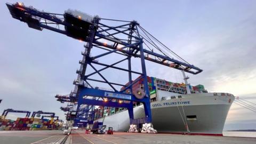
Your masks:
M28 28L11 17L5 2L0 2L0 112L6 108L54 111L65 119L59 109L65 105L54 96L74 89L84 43L50 30ZM237 97L256 96L256 1L20 2L53 13L75 9L101 18L136 20L172 51L203 69L198 75L187 74L191 85L203 84L209 92ZM146 67L149 76L182 82L178 70L150 62ZM121 72L105 74L127 82ZM7 118L17 116L25 115ZM233 103L224 130L235 129L256 129L256 114Z

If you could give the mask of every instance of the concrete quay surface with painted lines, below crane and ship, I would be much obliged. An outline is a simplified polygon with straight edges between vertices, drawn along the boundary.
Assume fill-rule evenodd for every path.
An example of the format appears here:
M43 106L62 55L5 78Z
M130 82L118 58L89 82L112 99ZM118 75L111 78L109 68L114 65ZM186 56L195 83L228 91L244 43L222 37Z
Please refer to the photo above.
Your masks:
M256 138L241 137L215 137L201 135L178 135L178 134L146 134L114 132L109 134L85 134L85 131L73 131L67 139L63 131L0 131L0 143L256 143ZM66 140L66 142L63 142Z

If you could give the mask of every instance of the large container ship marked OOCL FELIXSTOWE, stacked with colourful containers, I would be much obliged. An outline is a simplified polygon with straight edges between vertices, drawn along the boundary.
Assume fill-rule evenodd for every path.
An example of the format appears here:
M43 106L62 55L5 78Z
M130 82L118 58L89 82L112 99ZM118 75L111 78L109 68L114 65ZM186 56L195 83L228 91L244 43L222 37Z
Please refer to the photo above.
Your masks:
M188 77L184 73L183 76L185 83L147 77L154 129L159 133L222 136L234 95L207 92L203 85L189 85ZM143 89L143 79L138 78L141 80L133 85L133 91ZM145 117L143 105L134 103L133 113L134 118ZM130 127L128 110L124 108L98 107L95 121L113 127L114 131L127 131Z

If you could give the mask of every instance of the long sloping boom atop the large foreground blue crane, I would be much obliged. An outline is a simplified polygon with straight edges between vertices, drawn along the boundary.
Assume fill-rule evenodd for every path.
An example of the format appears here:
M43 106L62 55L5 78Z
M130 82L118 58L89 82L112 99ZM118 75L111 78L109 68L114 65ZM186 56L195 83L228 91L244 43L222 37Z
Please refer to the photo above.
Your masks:
M124 34L127 35L131 38L135 38L137 42L143 41L141 38L141 35L132 35L129 33L125 33L127 30L134 29L138 30L141 26L139 23L136 21L130 21L129 23L126 23L121 26L117 27L111 27L107 26L101 22L98 22L97 25L92 23L92 19L99 19L99 20L106 20L106 19L101 19L98 16L91 17L90 15L86 15L87 18L89 17L90 19L83 19L79 15L75 15L74 12L70 11L65 11L64 14L55 14L55 13L47 13L47 12L42 12L34 7L27 7L23 5L22 3L16 3L16 4L9 4L6 3L12 17L14 19L18 19L20 21L26 22L30 28L34 28L37 30L43 30L49 29L52 31L55 31L60 34L67 35L69 37L79 39L80 41L88 42L89 41L89 27L92 26L94 27L95 31L95 37L93 39L93 43L95 45L103 45L100 39L105 39L110 42L114 42L115 45L122 45L122 46L127 46L129 47L129 43L126 41L123 41L121 38L113 37L113 34L106 35L102 34L102 32L106 32L109 30L116 30L116 34ZM64 26L64 29L63 27ZM130 26L126 30L118 30L117 28L124 28ZM107 29L103 30L97 30L98 28L105 27ZM143 29L142 29L143 30ZM145 32L143 30L143 32ZM135 33L139 33L135 32ZM145 37L146 38L146 37ZM117 50L117 47L115 45L108 45L105 44L105 47L108 47L109 49L112 50ZM153 45L154 46L154 45ZM124 54L130 54L133 57L140 57L139 52L139 46L130 46L130 49L119 49L117 50L119 52L122 52ZM151 50L146 50L143 49L143 52L146 54L145 59L151 62L159 63L164 66L172 67L175 69L183 70L186 71L187 73L191 74L198 74L201 73L203 70L195 67L194 65L190 65L187 62L179 61L177 59L171 58L167 56L165 53L160 54L154 52L152 49Z

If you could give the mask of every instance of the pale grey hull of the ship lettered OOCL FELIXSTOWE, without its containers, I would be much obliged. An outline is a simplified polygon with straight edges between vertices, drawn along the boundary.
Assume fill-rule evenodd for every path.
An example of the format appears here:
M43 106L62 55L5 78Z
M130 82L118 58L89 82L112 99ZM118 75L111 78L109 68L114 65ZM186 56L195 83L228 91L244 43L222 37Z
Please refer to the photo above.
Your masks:
M182 98L151 102L154 129L162 133L187 133L189 130L191 134L222 135L234 96L221 96L221 93L181 96ZM134 118L145 117L142 105L135 107L133 111ZM102 122L103 118L97 121ZM115 131L127 131L130 126L128 111L105 117L103 124L113 127Z

